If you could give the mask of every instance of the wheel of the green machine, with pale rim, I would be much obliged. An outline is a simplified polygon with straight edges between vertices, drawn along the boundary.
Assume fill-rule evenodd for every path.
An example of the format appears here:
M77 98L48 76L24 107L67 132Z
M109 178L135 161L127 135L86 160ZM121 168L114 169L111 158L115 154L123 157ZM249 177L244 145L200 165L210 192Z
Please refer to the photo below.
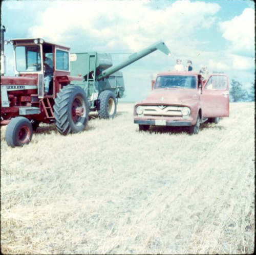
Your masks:
M116 115L116 96L110 90L104 90L99 94L99 110L100 119L113 119Z

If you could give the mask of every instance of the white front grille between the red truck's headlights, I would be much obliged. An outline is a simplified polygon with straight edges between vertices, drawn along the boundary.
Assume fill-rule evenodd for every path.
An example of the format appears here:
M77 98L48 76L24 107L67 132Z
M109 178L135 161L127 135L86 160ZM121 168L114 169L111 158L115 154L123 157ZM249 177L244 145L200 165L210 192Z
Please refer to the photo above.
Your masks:
M165 106L165 105L143 105L144 115L151 116L182 116L181 110L183 107Z

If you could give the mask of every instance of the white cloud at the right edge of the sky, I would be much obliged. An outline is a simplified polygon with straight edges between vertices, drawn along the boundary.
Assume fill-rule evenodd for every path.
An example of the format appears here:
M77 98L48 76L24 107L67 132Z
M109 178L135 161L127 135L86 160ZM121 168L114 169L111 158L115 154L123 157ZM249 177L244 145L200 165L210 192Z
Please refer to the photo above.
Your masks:
M254 52L254 9L246 8L240 16L231 20L219 22L223 37L230 41L230 51L233 53Z

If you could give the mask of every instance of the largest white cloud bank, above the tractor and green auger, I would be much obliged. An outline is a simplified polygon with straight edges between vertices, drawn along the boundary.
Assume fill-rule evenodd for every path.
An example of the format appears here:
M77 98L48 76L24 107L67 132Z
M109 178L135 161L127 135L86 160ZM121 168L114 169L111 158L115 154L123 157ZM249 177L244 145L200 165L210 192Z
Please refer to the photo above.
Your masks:
M83 38L96 49L137 51L162 39L173 49L189 40L200 28L209 28L218 4L170 2L165 9L152 9L148 1L61 1L42 13L41 25L29 37L46 37L68 44ZM96 50L94 49L94 50Z

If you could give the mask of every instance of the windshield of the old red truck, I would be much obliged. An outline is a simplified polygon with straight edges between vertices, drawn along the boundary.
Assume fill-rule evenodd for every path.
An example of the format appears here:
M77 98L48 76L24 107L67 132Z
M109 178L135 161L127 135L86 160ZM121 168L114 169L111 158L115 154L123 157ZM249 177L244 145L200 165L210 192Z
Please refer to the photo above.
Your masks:
M197 87L196 76L165 75L158 76L154 88L188 88Z

